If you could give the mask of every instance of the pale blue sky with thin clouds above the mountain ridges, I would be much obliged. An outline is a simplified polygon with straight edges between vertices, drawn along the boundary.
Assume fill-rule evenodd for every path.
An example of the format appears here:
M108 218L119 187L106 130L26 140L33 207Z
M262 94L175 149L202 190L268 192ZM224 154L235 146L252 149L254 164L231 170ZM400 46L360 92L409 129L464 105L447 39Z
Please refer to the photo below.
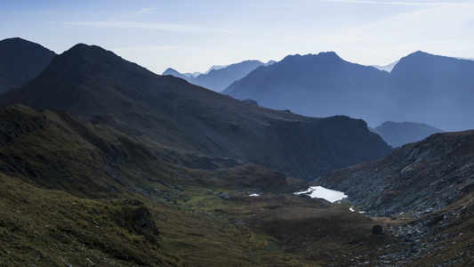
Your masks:
M419 50L474 58L474 0L0 0L9 37L96 44L157 74L327 51L383 66Z

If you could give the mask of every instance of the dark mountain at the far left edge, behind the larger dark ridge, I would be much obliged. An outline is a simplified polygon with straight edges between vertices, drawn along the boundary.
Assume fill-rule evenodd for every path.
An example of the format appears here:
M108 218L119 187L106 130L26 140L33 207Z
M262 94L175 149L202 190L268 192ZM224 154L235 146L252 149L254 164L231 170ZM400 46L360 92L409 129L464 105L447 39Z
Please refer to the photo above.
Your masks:
M28 83L56 53L21 38L0 41L0 94Z

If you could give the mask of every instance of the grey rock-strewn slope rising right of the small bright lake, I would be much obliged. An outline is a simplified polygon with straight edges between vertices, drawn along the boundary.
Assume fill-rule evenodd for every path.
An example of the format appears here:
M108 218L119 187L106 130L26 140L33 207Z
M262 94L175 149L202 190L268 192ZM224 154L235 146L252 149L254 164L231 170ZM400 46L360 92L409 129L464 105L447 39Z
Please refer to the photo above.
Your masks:
M318 177L372 215L438 211L474 188L474 131L433 134L386 158Z

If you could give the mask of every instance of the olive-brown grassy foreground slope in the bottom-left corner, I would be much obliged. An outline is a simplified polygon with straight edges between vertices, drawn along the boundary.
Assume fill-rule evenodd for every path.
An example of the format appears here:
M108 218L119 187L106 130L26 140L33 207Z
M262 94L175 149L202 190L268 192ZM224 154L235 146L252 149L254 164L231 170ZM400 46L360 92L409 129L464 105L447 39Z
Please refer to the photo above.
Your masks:
M179 266L157 239L133 230L122 201L76 198L2 174L0 265Z

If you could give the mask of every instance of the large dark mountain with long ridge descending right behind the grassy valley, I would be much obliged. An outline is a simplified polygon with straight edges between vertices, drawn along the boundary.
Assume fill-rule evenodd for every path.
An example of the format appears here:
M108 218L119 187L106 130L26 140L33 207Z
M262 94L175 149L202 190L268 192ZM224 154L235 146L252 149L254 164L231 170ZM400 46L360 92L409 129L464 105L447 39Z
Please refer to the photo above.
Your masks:
M0 103L63 109L125 129L158 157L197 168L252 162L308 180L390 151L362 120L263 109L85 44Z

